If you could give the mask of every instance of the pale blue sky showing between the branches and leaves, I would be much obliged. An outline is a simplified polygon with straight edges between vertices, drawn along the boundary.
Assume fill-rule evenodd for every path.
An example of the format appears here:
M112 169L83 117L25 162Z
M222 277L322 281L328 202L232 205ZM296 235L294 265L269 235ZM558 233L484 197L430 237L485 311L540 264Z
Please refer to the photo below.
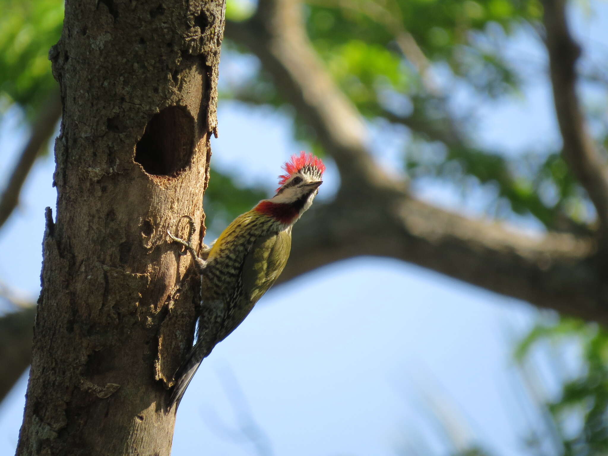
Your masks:
M592 5L595 15L577 10L572 17L582 44L599 58L608 49L608 7ZM530 84L525 96L478 106L480 141L506 154L542 150L559 140L543 49L522 34L508 52L531 62ZM223 57L222 72L243 63ZM587 100L594 93L584 92ZM458 95L467 102L466 94ZM212 165L237 173L245 184L271 190L282 162L303 148L291 139L291 122L267 110L224 102L219 125ZM2 119L0 176L26 137L14 111ZM379 127L371 128L379 160L396 167L407 137L380 138ZM33 299L40 287L44 207L55 207L53 170L51 157L35 165L21 206L0 231L0 280ZM330 165L320 196L331 195L336 181ZM430 181L416 190L466 213L480 213L485 198L478 191L463 201L451 185ZM179 409L173 455L259 454L239 430L251 419L266 454L441 454L445 440L434 413L463 444L522 454L529 426L523 416L532 426L539 417L516 393L512 337L536 317L525 303L400 261L361 257L311 272L268 292L203 363ZM24 376L0 404L0 454L15 449L25 387Z

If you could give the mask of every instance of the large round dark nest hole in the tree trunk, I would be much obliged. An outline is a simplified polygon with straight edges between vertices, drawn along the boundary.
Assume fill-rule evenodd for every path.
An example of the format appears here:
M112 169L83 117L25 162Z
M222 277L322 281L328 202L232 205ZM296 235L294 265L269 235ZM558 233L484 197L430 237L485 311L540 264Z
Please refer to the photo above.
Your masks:
M135 148L135 161L148 174L174 176L190 164L194 119L179 106L169 106L150 119Z

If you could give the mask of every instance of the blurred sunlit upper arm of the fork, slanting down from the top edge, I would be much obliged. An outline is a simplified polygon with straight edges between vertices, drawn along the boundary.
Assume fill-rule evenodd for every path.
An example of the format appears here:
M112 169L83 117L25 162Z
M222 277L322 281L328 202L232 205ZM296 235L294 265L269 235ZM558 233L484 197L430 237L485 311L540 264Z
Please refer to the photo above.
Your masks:
M320 142L332 154L342 177L342 188L373 184L402 188L385 180L384 173L367 153L366 128L356 108L334 86L303 29L300 2L261 1L246 22L226 23L226 36L260 58L299 114L305 117Z

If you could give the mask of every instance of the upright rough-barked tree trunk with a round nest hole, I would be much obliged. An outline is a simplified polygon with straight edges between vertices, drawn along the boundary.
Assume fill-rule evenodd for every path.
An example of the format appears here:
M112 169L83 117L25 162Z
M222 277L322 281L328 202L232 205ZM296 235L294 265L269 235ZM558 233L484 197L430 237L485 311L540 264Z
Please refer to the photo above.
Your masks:
M166 231L187 214L204 234L224 4L67 0L65 14L57 220L47 209L17 454L168 455L197 296Z

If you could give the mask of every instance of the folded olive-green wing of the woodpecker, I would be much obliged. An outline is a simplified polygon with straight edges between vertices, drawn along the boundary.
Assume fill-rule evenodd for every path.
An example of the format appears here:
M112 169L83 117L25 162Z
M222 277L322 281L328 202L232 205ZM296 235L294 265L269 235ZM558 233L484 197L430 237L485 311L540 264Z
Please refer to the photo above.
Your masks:
M285 268L291 250L291 230L258 238L243 263L243 291L251 305L271 288Z

